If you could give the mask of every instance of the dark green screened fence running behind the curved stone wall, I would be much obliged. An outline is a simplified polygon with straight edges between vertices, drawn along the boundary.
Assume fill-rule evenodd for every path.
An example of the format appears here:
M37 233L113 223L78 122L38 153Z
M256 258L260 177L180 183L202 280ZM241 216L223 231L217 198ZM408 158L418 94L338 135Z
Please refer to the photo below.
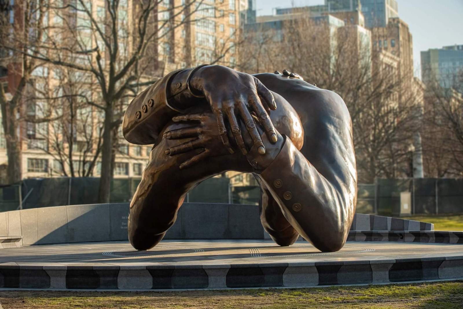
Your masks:
M248 179L249 180L249 179ZM113 179L110 202L130 202L140 178ZM37 178L21 185L0 187L0 211L94 204L98 202L100 179ZM463 178L378 179L358 184L357 213L400 215L400 193L410 192L412 214L463 213ZM206 179L191 190L186 202L258 204L256 182L237 182L228 177Z

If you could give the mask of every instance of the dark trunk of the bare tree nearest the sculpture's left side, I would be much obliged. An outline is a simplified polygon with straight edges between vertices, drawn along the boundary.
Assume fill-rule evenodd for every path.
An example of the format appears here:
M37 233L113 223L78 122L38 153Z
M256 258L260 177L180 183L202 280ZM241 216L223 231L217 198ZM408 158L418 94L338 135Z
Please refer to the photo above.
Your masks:
M101 147L101 175L98 192L99 203L109 203L111 180L113 179L113 109L111 105L105 110L103 145Z

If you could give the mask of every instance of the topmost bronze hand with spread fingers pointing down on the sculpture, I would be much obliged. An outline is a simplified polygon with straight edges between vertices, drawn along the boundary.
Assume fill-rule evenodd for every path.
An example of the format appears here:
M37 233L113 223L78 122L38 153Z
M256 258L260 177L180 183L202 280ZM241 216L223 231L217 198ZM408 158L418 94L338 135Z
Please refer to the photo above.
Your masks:
M253 115L257 117L268 139L276 143L277 135L269 113L276 109L272 93L256 77L233 69L211 65L198 69L191 78L191 86L202 92L215 114L222 143L233 153L226 123L229 124L233 138L243 154L247 149L238 119L245 124L253 145L258 153L265 154Z

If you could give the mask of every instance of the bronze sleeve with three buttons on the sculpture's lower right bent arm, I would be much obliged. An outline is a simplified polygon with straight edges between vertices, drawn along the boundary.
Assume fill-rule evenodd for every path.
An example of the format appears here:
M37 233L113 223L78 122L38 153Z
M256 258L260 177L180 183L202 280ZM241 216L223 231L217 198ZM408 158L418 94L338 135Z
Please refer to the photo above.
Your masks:
M355 170L338 170L337 180L328 181L286 138L258 177L302 237L321 251L344 246L357 200Z

